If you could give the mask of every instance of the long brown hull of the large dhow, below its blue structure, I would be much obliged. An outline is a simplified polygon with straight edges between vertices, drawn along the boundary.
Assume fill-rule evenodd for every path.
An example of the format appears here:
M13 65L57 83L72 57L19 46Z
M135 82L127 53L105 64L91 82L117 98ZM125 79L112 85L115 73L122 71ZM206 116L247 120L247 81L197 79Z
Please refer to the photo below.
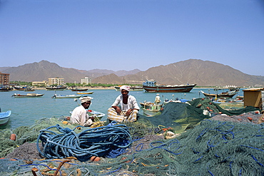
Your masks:
M188 93L196 84L185 86L143 86L148 93Z

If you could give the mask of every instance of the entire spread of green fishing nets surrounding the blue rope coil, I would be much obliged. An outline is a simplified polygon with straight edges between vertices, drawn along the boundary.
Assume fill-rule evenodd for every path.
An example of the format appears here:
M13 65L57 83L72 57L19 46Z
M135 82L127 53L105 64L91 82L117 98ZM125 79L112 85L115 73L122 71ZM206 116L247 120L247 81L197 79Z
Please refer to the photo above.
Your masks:
M51 130L54 132L51 134L57 135L59 130L51 127L59 125L78 135L89 129L77 129L65 117L45 118L30 127L1 130L0 155L4 158L0 160L0 175L32 175L32 169L36 175L67 176L264 175L264 125L256 124L262 115L256 114L255 108L243 108L232 112L236 115L229 117L235 119L230 122L225 119L228 115L219 114L229 111L203 101L195 100L191 105L168 103L157 116L141 115L134 123L118 123L127 126L133 143L122 151L113 150L112 157L101 156L97 162L81 162L72 156L47 159L40 155L36 141L41 130ZM210 111L208 106L216 109ZM204 110L208 110L208 115L203 114ZM163 129L168 127L181 134L165 139ZM9 140L12 133L16 134L16 141ZM44 151L45 145L39 143L39 147Z

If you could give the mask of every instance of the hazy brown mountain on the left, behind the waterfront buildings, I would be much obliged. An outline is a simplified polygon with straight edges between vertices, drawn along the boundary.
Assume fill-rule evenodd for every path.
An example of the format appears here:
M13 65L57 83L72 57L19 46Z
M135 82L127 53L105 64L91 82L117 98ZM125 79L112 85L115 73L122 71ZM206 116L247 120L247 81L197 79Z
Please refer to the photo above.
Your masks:
M108 74L116 74L118 76L125 76L130 73L138 73L140 70L133 71L110 71L94 69L91 71L77 70L75 68L64 68L56 63L49 61L40 61L39 63L26 63L18 67L0 67L3 73L10 73L10 81L44 81L49 78L64 78L65 83L80 83L81 78L97 78L99 76L107 76Z

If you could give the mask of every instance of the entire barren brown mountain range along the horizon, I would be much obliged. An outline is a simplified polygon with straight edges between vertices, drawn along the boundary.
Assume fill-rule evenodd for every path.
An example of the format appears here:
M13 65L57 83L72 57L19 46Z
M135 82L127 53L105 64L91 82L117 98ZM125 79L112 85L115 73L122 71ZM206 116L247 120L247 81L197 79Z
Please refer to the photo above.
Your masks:
M213 61L188 59L166 66L148 68L146 71L111 71L93 69L89 71L64 68L56 63L40 61L17 67L0 67L2 73L10 74L10 81L47 81L49 78L64 78L65 83L80 83L89 77L92 83L142 84L154 79L158 84L180 85L196 83L197 86L264 86L264 76L252 76L230 66Z

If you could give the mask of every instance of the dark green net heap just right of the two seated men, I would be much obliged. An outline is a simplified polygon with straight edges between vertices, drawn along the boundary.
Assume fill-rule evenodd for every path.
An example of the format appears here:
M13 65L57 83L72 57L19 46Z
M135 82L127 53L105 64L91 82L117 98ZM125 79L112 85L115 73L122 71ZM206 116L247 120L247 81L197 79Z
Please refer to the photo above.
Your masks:
M225 115L240 115L250 111L259 110L252 106L240 110L224 110L219 105L207 98L197 98L188 103L170 102L162 111L153 117L139 115L138 120L148 120L152 125L173 128L175 133L182 133L188 128L193 128L201 120L208 119L219 113Z

